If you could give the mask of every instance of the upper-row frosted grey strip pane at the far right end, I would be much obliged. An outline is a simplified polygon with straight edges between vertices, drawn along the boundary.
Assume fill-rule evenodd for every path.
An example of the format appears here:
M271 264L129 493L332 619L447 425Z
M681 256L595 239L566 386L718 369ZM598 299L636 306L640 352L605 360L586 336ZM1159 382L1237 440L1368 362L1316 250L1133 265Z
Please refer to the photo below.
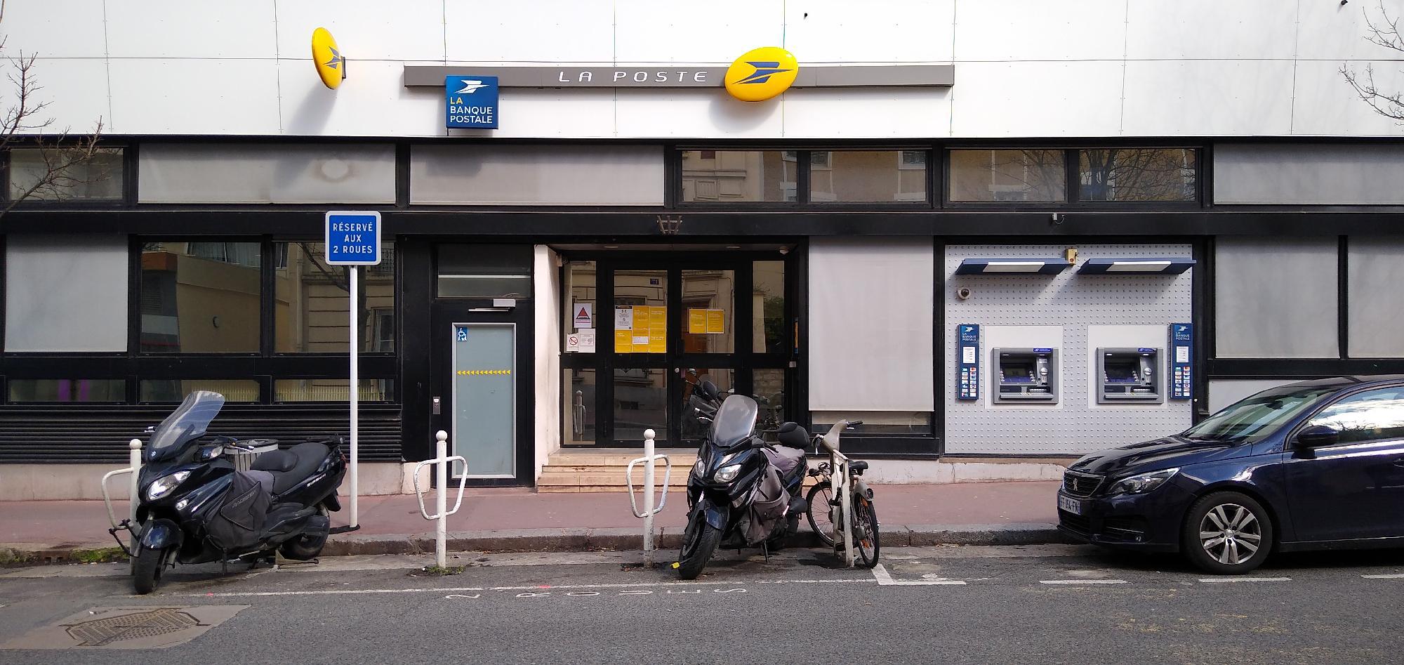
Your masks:
M1214 203L1404 203L1400 145L1214 145Z

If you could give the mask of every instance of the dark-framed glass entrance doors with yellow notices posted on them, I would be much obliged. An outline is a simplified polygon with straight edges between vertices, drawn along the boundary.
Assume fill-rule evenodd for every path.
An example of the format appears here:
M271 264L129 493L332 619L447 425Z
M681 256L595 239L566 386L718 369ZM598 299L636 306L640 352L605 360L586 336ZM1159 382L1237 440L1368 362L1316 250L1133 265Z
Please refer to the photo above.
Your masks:
M705 380L757 397L762 426L776 426L793 376L793 348L779 340L789 314L783 265L747 257L567 264L567 335L577 335L577 349L581 334L592 337L594 348L564 354L563 443L640 446L653 429L658 445L695 446L706 426L688 400Z

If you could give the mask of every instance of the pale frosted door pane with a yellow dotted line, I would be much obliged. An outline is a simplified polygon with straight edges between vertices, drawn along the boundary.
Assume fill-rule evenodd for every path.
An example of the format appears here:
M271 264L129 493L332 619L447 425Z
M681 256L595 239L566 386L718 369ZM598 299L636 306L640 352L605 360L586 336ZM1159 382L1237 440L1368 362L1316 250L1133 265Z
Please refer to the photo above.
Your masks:
M455 323L453 453L469 478L512 478L517 470L517 325ZM462 469L453 470L456 474Z

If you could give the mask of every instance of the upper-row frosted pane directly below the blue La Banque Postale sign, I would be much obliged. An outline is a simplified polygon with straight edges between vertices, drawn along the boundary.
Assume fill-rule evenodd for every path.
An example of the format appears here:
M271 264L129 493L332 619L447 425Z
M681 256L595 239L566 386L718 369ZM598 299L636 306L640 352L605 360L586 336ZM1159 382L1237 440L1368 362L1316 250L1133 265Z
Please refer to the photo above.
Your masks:
M661 146L414 146L410 202L663 205L663 171Z

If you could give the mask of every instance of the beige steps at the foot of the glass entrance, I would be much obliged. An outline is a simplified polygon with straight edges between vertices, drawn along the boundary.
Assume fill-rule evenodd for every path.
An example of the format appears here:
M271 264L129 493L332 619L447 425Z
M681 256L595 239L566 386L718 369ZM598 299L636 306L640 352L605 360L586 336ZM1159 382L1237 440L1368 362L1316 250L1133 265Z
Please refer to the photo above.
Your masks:
M673 462L673 477L668 478L671 490L681 490L688 484L688 471L696 463L695 448L660 448L658 455L667 455ZM629 485L625 483L625 471L629 462L642 457L642 448L598 448L598 449L564 449L557 450L546 459L546 464L536 478L539 492L625 492ZM643 481L643 470L635 469L635 483ZM663 483L663 464L657 466L657 483Z

